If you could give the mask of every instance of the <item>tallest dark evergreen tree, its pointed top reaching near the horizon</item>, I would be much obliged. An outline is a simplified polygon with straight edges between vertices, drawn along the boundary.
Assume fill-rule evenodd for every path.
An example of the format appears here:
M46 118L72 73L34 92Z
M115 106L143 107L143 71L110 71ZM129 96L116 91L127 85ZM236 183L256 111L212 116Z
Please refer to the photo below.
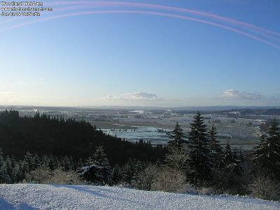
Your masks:
M193 123L190 124L188 137L190 177L193 179L195 186L197 185L197 180L203 183L211 179L212 176L211 162L209 160L209 139L206 127L207 125L204 124L202 115L197 113L194 116Z

